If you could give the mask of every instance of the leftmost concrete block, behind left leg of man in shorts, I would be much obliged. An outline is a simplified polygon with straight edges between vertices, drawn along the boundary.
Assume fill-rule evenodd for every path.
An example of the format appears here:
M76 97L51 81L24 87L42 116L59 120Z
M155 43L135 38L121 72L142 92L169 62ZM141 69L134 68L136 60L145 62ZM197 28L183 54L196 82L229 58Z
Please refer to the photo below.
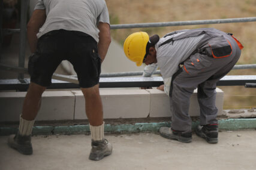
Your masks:
M0 92L0 122L19 121L26 92ZM74 94L70 91L46 91L36 120L73 120Z

